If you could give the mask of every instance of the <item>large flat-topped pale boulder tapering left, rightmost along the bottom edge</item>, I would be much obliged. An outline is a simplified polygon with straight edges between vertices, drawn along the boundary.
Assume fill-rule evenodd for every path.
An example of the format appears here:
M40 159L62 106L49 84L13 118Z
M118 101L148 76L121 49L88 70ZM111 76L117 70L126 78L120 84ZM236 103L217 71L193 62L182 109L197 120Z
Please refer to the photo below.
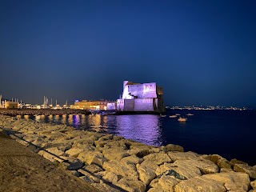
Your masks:
M225 184L227 190L244 190L247 191L250 186L250 178L248 174L244 173L219 173L219 174L205 174L202 177L213 179L214 181Z

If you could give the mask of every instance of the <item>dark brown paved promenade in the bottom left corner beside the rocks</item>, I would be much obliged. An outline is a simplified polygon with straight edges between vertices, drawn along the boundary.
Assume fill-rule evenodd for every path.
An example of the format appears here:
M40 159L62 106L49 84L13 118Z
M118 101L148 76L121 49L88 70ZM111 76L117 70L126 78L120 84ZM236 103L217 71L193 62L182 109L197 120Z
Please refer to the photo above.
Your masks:
M98 191L2 131L0 146L0 191Z

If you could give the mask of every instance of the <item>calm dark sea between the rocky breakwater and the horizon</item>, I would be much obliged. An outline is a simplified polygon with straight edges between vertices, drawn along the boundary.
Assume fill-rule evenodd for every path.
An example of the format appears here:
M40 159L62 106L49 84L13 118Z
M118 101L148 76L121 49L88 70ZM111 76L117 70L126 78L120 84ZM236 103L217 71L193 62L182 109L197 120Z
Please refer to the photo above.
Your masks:
M170 114L191 113L187 122ZM37 122L66 124L77 129L121 135L152 146L168 143L198 154L220 154L256 165L255 110L170 110L165 118L154 114L22 116Z

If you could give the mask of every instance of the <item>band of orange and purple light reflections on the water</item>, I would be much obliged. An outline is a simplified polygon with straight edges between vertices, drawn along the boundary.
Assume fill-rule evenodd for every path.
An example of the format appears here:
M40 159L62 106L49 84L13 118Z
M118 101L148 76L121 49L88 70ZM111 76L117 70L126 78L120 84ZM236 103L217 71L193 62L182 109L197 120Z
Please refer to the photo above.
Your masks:
M24 115L20 118L34 119L36 122L66 124L77 129L94 130L101 133L115 134L143 142L151 146L161 146L162 128L160 118L154 114L139 115L100 115L100 114L69 114L69 115Z

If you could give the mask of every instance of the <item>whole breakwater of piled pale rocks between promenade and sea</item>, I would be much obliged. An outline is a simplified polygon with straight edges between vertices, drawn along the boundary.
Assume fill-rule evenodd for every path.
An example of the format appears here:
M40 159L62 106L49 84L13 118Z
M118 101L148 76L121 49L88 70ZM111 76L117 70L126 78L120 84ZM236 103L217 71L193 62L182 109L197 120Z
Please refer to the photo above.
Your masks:
M0 115L0 127L102 191L256 191L256 166L182 146L147 146L113 134ZM0 130L1 130L0 129Z

